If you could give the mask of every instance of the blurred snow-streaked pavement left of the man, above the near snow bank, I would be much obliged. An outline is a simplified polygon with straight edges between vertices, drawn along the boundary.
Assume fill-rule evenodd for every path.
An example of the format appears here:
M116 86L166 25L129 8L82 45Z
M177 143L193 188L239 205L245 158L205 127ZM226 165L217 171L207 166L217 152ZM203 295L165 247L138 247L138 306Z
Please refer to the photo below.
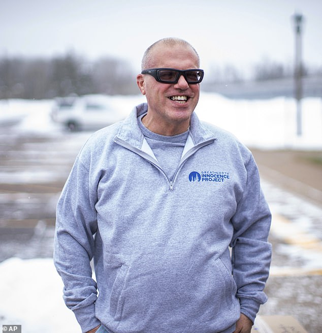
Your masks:
M52 256L55 208L88 133L0 135L0 261Z

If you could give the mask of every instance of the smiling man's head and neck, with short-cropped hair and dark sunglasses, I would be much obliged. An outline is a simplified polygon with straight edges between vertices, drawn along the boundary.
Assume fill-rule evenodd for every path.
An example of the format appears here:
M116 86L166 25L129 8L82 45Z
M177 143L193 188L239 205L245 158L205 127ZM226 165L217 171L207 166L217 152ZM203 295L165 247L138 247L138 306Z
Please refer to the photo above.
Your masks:
M203 78L196 51L184 43L156 43L145 52L142 69L143 74L138 75L137 82L148 103L143 124L164 136L186 131L199 100L199 83ZM181 75L169 69L190 71Z

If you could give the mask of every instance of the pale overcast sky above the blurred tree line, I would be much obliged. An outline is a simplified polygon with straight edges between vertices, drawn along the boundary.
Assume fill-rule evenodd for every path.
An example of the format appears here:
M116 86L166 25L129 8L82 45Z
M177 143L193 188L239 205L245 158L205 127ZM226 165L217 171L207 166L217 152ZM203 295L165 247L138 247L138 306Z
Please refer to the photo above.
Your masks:
M322 66L322 0L0 0L0 55L52 56L73 50L112 55L140 69L145 49L180 37L201 66L247 71L268 58L294 62L292 15L301 13L303 61Z

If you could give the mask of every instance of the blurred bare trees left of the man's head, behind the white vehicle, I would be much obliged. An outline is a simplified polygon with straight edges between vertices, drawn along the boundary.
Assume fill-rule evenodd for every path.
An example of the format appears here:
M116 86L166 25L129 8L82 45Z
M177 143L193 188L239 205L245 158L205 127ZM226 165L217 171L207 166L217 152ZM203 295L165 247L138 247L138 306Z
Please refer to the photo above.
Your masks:
M0 58L0 98L137 92L135 75L122 59L106 57L90 63L73 52L51 59Z

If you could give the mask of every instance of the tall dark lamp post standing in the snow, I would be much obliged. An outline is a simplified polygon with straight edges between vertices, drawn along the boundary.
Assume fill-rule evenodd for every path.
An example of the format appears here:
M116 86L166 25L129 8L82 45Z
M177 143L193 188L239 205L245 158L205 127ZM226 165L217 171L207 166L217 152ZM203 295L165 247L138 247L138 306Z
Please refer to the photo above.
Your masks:
M295 14L293 16L295 23L295 98L297 104L297 135L302 135L302 105L301 99L303 96L303 66L302 66L302 23L303 16Z

